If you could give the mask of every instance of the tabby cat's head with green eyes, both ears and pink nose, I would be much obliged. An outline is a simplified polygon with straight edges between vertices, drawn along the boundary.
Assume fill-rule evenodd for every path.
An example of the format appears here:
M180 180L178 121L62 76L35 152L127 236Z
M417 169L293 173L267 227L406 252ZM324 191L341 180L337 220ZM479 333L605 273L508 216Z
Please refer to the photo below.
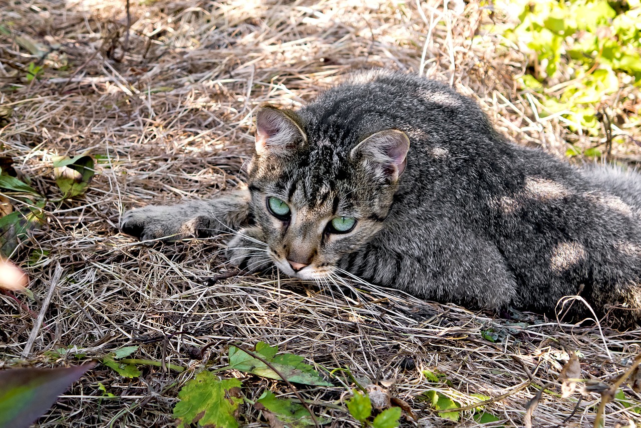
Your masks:
M249 166L252 210L270 256L303 279L328 277L381 230L410 146L398 130L342 133L353 141L336 141L322 128L263 107Z

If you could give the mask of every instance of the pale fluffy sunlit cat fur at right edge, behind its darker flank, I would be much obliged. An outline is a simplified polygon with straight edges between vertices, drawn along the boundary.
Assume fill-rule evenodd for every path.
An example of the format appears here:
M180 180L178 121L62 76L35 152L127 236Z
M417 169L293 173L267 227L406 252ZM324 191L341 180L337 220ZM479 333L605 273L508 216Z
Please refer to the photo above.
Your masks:
M592 183L619 196L641 212L641 173L631 168L603 164L589 164L581 170Z

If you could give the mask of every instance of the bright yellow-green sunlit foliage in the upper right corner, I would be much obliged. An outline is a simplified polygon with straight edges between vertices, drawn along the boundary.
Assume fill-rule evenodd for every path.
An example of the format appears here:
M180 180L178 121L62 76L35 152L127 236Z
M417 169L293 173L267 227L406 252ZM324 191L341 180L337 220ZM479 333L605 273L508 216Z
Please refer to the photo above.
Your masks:
M519 79L520 85L540 95L543 116L562 112L570 130L598 135L595 107L622 85L641 82L641 1L626 1L617 10L606 0L509 4L520 8L520 24L499 31L529 54L529 74ZM568 153L576 154L576 149ZM583 154L597 157L600 152Z

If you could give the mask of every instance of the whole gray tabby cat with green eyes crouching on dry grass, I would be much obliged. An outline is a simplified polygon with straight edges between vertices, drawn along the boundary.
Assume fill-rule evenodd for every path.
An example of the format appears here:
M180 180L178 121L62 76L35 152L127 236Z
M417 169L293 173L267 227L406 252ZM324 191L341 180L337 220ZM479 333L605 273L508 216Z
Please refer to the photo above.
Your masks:
M142 239L239 227L229 259L250 270L345 270L429 300L548 314L580 293L616 324L641 320L641 175L517 146L474 101L419 76L362 73L300 110L263 107L248 190L122 221Z

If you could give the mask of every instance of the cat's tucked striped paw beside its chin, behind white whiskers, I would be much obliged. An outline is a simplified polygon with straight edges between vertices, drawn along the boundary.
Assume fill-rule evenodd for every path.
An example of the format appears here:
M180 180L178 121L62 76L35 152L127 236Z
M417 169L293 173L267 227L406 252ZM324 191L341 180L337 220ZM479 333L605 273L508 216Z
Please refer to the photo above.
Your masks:
M229 264L249 272L269 268L272 260L269 257L269 248L264 241L265 236L260 227L241 229L228 243L225 255Z

